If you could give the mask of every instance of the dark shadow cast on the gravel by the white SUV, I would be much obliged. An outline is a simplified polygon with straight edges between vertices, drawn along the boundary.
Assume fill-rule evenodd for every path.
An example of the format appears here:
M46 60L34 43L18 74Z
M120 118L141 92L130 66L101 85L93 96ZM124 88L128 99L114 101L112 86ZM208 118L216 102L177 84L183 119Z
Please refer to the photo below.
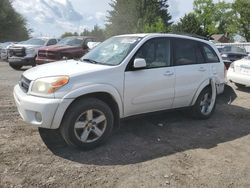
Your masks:
M94 165L135 164L187 150L209 149L250 134L250 110L230 105L236 97L234 90L227 86L225 93L218 97L214 115L208 120L194 120L187 115L187 110L124 120L106 144L90 151L68 147L59 135L58 143L55 134L50 139L54 139L54 143L48 143L44 135L41 137L55 155Z

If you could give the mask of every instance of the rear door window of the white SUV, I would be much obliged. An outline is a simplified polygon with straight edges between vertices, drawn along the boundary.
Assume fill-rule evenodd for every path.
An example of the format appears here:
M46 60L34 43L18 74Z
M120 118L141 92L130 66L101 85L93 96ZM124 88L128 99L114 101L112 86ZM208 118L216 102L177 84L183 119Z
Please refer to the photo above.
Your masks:
M196 42L187 39L174 39L175 65L196 64L197 62L196 53L197 53Z

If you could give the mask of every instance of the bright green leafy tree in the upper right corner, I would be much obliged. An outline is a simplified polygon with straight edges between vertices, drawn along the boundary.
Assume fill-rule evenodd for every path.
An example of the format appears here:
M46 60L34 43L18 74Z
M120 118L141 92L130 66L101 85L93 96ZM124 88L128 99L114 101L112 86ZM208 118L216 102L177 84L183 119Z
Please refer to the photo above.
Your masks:
M237 26L247 41L250 41L250 1L249 0L235 0L233 3L233 10L237 20Z

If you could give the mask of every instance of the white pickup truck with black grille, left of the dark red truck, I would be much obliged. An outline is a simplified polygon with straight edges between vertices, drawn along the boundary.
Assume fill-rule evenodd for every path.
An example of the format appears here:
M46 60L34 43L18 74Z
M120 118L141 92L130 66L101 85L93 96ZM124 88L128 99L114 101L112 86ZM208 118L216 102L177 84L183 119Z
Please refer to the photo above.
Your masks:
M21 44L15 44L9 48L9 65L16 70L26 65L35 66L38 49L43 46L55 45L56 43L56 38L40 37L31 38Z

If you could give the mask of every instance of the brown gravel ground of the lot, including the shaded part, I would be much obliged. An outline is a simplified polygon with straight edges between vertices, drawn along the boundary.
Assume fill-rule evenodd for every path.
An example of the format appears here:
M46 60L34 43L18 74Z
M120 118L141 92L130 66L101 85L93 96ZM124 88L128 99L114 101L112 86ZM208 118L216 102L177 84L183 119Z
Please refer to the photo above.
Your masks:
M44 144L21 120L12 91L22 72L0 62L0 187L250 187L250 88L227 86L209 120L180 110L128 119L84 152L55 134Z

